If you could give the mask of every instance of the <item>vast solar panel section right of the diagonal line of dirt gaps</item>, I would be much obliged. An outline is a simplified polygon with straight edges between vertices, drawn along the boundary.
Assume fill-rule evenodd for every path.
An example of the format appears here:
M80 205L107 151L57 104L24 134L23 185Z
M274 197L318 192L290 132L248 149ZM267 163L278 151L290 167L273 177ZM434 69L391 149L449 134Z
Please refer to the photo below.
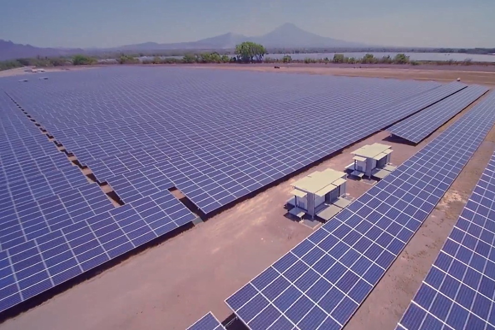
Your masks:
M127 67L7 91L124 201L170 185L210 213L465 87Z

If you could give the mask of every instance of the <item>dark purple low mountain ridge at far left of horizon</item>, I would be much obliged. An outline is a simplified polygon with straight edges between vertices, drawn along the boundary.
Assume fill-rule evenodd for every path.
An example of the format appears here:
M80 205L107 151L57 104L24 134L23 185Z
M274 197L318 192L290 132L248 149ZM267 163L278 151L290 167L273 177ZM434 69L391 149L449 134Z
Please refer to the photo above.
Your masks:
M76 53L82 53L81 48L40 48L31 45L15 44L12 41L0 39L0 61L36 56L67 56Z

